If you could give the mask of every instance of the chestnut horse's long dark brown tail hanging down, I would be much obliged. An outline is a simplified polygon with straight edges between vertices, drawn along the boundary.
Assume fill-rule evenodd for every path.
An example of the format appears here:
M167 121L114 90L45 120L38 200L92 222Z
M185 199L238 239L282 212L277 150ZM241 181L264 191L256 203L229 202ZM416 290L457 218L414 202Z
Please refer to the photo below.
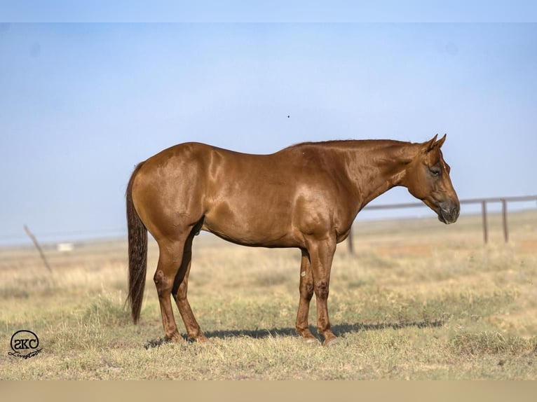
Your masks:
M132 183L140 167L142 167L142 163L138 164L134 172L132 172L126 193L129 254L129 294L127 296L127 303L130 305L132 321L135 324L140 319L147 271L147 228L144 226L132 203Z

